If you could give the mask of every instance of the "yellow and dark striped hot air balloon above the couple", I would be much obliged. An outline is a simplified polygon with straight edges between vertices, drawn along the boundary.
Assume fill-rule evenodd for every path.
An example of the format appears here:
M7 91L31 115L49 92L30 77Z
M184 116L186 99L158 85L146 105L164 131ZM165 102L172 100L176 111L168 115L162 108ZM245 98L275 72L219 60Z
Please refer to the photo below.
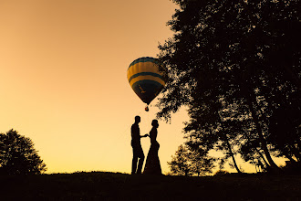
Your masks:
M163 73L159 71L158 59L137 58L130 63L128 80L131 89L139 96L140 100L147 104L145 111L149 111L148 105L162 90L165 85Z

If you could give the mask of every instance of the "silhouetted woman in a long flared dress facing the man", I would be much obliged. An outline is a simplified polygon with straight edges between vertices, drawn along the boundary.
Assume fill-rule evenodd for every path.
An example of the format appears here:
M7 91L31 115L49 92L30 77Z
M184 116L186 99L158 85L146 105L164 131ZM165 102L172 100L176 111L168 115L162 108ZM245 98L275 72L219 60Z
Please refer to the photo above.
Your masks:
M150 130L150 151L146 159L143 174L146 175L161 175L161 164L158 156L160 144L157 142L157 128L159 123L157 120L151 122L152 128Z

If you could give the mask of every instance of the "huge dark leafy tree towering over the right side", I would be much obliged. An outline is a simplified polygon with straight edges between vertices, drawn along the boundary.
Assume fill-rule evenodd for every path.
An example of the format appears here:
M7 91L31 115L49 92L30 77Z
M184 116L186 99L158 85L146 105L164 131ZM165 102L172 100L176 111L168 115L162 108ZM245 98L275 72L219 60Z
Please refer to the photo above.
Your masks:
M214 149L222 141L230 155L227 142L251 144L277 170L268 147L281 138L269 137L270 120L281 108L300 111L292 103L300 103L299 1L173 2L180 5L168 23L175 34L159 47L168 82L158 117L168 121L188 106L191 121L184 131L191 144ZM237 132L244 122L249 128ZM293 124L297 128L300 120ZM299 142L300 133L291 137L289 142Z

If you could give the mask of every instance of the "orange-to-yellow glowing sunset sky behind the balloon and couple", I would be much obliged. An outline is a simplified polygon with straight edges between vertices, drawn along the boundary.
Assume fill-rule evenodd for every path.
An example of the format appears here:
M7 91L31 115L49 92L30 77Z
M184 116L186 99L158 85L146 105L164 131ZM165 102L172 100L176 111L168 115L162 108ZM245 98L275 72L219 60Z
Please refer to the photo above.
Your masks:
M144 111L126 71L156 57L175 8L169 0L0 0L0 132L31 138L47 173L130 173L134 116L144 134L158 109ZM182 110L159 122L163 173L187 120ZM147 155L150 139L141 143Z

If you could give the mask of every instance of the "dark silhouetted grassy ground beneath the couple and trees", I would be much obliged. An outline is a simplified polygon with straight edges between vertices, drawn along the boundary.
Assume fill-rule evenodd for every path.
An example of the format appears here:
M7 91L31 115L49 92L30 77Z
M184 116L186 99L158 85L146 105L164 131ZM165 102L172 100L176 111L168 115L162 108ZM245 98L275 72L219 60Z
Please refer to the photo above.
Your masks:
M2 175L0 200L301 200L301 175Z

